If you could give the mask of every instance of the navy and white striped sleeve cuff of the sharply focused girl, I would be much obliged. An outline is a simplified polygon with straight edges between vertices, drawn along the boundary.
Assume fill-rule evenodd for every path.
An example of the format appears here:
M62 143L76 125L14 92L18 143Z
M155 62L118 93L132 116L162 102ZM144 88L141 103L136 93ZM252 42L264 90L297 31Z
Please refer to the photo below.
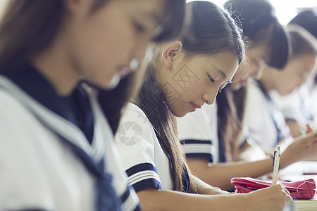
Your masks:
M156 167L151 163L141 163L130 167L127 171L128 181L135 188L135 191L142 191L146 188L154 186L161 189L161 179L157 174Z

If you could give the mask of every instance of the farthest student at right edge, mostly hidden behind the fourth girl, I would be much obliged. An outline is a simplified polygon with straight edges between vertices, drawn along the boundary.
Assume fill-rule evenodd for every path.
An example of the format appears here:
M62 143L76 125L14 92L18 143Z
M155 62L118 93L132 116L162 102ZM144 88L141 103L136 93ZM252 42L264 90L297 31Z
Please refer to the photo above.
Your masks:
M297 14L290 23L299 25L310 32L317 39L317 13L314 11L302 11ZM316 69L316 68L315 68ZM317 72L309 76L299 89L295 89L291 94L280 96L277 92L272 95L273 101L282 110L287 125L293 137L297 137L317 127Z

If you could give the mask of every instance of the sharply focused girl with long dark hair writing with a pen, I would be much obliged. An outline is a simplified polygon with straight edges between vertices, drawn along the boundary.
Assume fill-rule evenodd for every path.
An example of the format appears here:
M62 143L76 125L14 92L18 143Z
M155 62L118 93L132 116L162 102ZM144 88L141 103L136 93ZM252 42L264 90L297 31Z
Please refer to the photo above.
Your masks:
M116 134L130 184L144 210L282 210L290 199L282 186L230 194L204 184L187 168L175 116L213 103L244 53L228 12L208 1L187 6L192 8L188 30L154 48L139 96L126 108Z

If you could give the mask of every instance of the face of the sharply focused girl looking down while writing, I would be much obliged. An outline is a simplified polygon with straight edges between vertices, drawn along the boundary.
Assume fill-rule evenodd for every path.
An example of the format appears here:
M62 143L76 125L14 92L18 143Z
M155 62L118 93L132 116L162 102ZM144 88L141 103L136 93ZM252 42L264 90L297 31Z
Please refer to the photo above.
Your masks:
M182 117L204 103L214 103L218 89L232 79L237 65L237 55L230 52L175 59L173 68L161 72L159 79L172 113Z

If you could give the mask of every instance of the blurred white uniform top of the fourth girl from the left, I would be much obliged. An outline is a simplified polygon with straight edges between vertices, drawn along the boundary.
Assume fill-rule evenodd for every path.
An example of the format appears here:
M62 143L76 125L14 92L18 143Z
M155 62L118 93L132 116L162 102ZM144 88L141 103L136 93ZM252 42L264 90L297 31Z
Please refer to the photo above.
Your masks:
M250 136L263 151L272 153L280 141L290 139L290 128L261 82L252 81L247 91L244 121Z

